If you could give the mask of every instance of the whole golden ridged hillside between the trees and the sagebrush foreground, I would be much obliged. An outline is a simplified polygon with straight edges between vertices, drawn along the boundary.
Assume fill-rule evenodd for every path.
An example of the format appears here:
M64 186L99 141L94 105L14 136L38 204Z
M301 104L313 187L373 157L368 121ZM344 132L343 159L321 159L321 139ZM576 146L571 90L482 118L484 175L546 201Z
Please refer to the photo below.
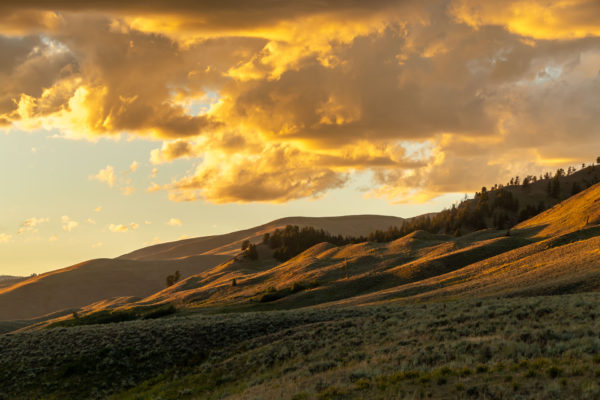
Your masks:
M590 187L520 224L511 236L495 230L460 238L418 231L386 244L322 243L281 264L264 256L263 261L230 261L191 277L180 286L185 290L170 288L152 299L251 304L271 291L281 296L268 305L288 308L596 290L598 199L600 185ZM294 284L310 282L318 285L290 293Z

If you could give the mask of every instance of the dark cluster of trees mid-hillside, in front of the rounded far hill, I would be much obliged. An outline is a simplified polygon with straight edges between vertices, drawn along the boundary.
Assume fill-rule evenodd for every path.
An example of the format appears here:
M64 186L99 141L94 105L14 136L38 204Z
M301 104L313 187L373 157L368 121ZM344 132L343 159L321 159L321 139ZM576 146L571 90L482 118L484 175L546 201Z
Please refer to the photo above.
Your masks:
M287 261L321 242L339 246L364 241L366 241L365 237L336 236L323 229L315 229L311 226L300 228L296 225L288 225L283 230L276 229L273 233L265 233L263 237L263 244L274 250L273 257L279 261Z

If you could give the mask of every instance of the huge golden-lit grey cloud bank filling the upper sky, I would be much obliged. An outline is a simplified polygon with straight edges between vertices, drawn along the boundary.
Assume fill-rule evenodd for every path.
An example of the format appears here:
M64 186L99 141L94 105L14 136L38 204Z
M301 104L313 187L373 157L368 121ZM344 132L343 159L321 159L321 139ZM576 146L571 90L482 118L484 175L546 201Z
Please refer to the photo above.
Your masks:
M147 189L175 201L365 171L369 195L423 201L597 156L595 0L159 3L0 5L0 124L163 140L153 164L194 163ZM130 194L109 167L92 178Z

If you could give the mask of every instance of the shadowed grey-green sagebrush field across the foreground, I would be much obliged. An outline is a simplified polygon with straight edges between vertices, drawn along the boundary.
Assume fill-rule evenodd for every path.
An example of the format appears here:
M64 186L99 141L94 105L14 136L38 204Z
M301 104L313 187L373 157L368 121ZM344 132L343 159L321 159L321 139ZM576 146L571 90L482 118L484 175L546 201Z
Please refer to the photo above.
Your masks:
M598 398L600 294L201 315L0 336L3 398Z

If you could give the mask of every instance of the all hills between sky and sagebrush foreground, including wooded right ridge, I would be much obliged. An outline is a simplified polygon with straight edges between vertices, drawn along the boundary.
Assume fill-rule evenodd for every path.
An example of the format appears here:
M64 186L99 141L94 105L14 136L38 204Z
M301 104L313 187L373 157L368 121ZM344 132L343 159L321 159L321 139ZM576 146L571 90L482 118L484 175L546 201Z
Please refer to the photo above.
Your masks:
M0 321L162 303L268 310L595 290L600 288L600 185L593 182L599 173L600 167L586 167L541 180L528 177L525 184L513 179L458 207L410 219L284 218L8 280L10 285L0 284ZM291 259L280 258L281 248L262 244L263 236L288 225L371 240L332 240L339 246L309 241ZM257 260L241 254L245 240L257 245ZM181 280L166 288L166 277L175 271Z

